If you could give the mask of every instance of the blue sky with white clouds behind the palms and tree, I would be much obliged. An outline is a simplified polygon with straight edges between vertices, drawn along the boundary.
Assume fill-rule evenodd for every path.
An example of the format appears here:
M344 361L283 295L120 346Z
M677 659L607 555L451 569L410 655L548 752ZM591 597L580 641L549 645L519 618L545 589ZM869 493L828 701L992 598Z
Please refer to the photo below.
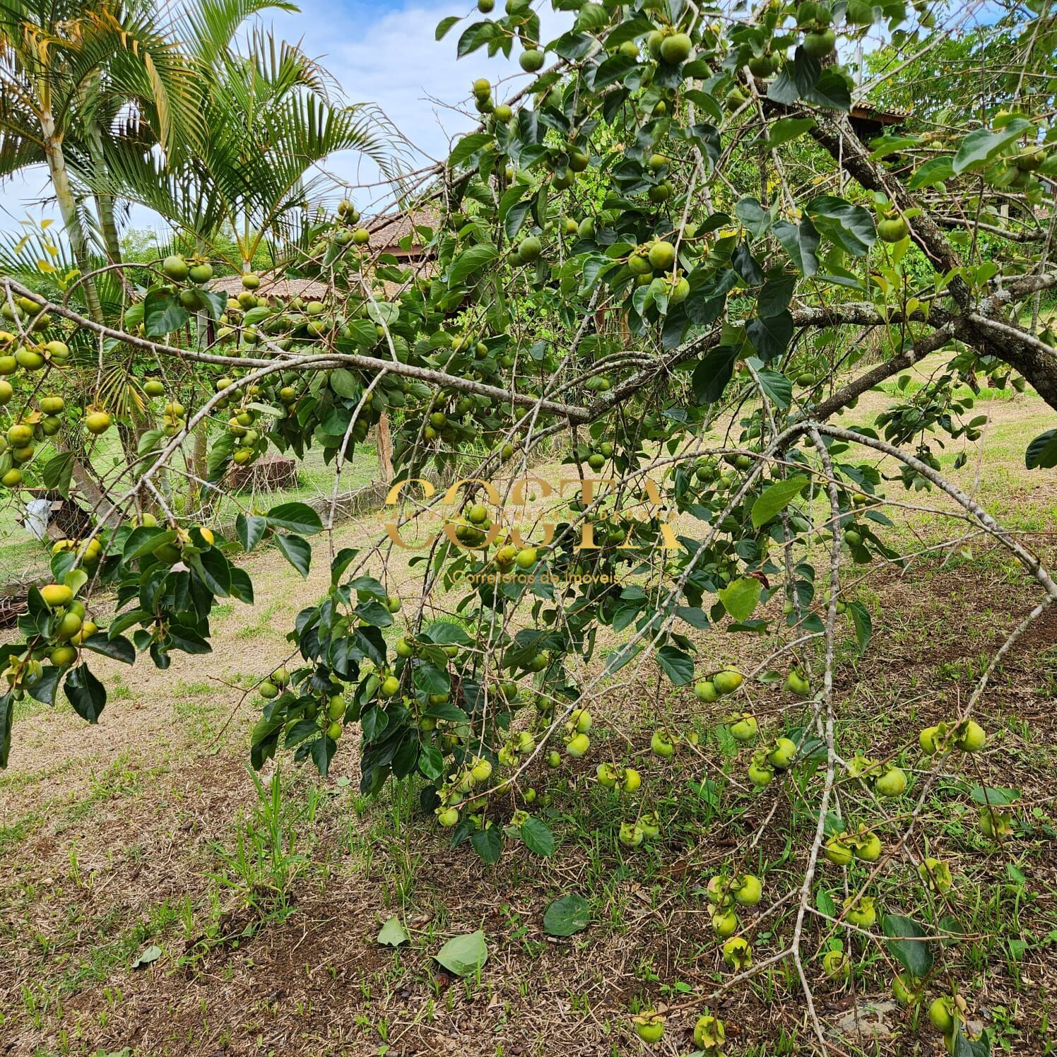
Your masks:
M498 0L500 7L502 3ZM511 92L527 79L516 62L488 59L483 52L457 61L459 26L437 43L437 23L447 15L476 14L474 0L301 0L299 6L298 14L276 12L263 22L274 26L277 36L300 41L309 55L321 59L349 101L378 104L413 144L434 157L443 155L449 137L471 122L426 101L427 96L458 104L467 98L476 77L516 74ZM556 32L560 32L556 16L546 18L544 12L544 39ZM373 167L361 166L356 155L335 155L327 168L353 184L359 182L357 175L375 179ZM49 194L43 169L8 181L0 187L0 228L11 230L27 216L36 220L53 216L53 207L37 204ZM134 210L132 224L162 227L143 209Z

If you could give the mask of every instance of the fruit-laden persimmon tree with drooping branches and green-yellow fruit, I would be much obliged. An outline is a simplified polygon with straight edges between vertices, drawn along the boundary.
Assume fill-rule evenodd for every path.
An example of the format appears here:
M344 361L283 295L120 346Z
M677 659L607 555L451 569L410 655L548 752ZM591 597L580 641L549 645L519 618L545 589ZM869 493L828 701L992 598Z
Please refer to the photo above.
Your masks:
M759 834L708 882L730 970L719 990L789 961L824 1049L814 983L847 978L849 951L876 948L896 996L931 1003L952 1053L985 1052L965 1027L971 996L943 966L954 893L921 815L940 776L984 746L973 709L1057 585L939 457L953 447L963 461L980 442L962 383L976 387L981 372L1057 407L1057 351L1036 305L1057 285L1052 16L1010 7L1001 71L964 74L975 109L901 125L871 91L958 30L934 25L925 4L731 13L555 0L571 29L551 41L527 2L478 7L476 20L445 19L438 38L455 36L470 68L502 53L522 74L472 80L478 128L402 183L403 196L414 185L402 199L412 218L435 217L407 238L421 263L378 251L384 221L347 198L290 263L326 284L319 300L262 296L254 274L228 298L209 286L207 254L173 256L108 327L3 280L0 468L15 500L38 463L47 484L69 486L69 453L44 443L57 423L104 439L113 427L93 372L66 366L71 348L100 363L112 342L136 350L153 365L144 391L156 415L138 458L103 476L93 527L57 545L54 582L30 590L21 638L2 648L3 757L22 694L50 703L61 686L98 718L93 652L130 664L147 653L160 668L173 652L207 653L217 599L254 601L241 559L274 543L302 574L329 561L331 580L298 615L290 656L255 687L265 699L256 767L291 752L326 774L355 744L366 793L419 776L424 810L488 863L504 838L551 854L532 776L587 767L619 798L631 854L663 839L664 819L618 742L599 753L592 737L614 686L653 666L743 746L741 777L723 777L717 746L680 731L659 729L653 756L686 754L724 796L784 792L817 818L793 889L750 873ZM843 60L878 34L889 58L856 84ZM860 395L939 350L921 389L875 423L840 424ZM340 471L383 413L394 523L373 546L338 550ZM335 503L322 516L301 503L245 508L229 526L173 507L159 476L196 472L185 450L200 425L203 496L272 448L320 448ZM569 470L560 492L526 483L540 450ZM478 465L456 481L468 456ZM1025 459L1039 474L1057 465L1057 430ZM846 585L871 561L906 557L888 506L1007 549L1040 600L960 709L873 758L841 752L834 672L846 635L871 648L870 612ZM320 535L329 545L314 549ZM411 605L393 568L416 543ZM106 622L104 592L116 595ZM711 659L719 632L748 637L752 667ZM600 634L616 644L605 656ZM775 683L781 705L758 708ZM1008 797L978 790L984 833L1008 839ZM842 908L816 904L823 870L842 871ZM880 929L882 871L907 874L926 924L889 909ZM781 949L754 962L754 933L789 909ZM822 935L817 964L809 931ZM694 1039L716 1052L724 1025L698 1013ZM635 1030L656 1041L664 1021L648 1012Z

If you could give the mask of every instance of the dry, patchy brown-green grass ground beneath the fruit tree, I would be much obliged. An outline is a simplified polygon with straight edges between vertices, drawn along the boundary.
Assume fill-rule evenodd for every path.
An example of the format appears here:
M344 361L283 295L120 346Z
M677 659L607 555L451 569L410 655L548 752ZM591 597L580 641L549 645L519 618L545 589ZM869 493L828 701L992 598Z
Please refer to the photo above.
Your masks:
M885 402L871 394L858 413ZM1030 475L1021 462L1045 414L1030 398L986 410L977 492L1053 563L1053 475ZM970 461L956 476L972 487L975 475ZM337 543L369 538L372 521L346 526ZM898 531L908 543L941 532L934 517L915 513L901 517ZM283 629L327 580L323 561L307 582L276 554L253 564L261 601L220 614L206 662L177 656L166 673L93 665L112 687L122 680L97 727L66 706L23 709L0 777L0 1052L601 1057L642 1052L630 1015L659 1002L673 1012L657 1052L692 1050L698 996L724 978L701 889L757 830L750 861L765 878L761 909L795 884L813 827L795 784L757 797L726 784L743 782L745 760L729 755L721 712L644 670L611 692L593 762L532 776L561 842L553 859L517 841L495 867L451 850L416 814L416 790L406 785L365 802L347 744L326 781L283 761L281 809L268 818L246 771L256 708L235 709L237 687L285 655ZM875 756L903 752L921 726L950 715L1037 598L1004 555L980 542L971 554L922 558L905 574L870 567L854 593L873 613L874 641L863 659L850 635L842 644L841 747ZM702 645L722 661L759 650L747 636ZM1054 1017L1055 702L1051 614L985 697L991 738L966 776L1021 790L1015 839L995 849L980 837L966 782L953 776L926 803L921 828L929 852L954 868L951 905L970 937L944 954L944 971L996 1043L1016 1054L1049 1052ZM777 689L754 690L761 717L785 706ZM659 724L698 730L700 750L662 764L648 748ZM592 780L594 762L610 754L635 761L648 801L666 818L664 838L633 854L616 842L618 810ZM916 753L904 759L911 773L920 765ZM719 810L694 792L703 778L721 783ZM878 904L915 912L916 887L910 868L893 861L876 882ZM824 870L819 889L839 903L839 871ZM543 910L571 891L591 900L595 924L569 940L546 937ZM411 935L398 950L375 942L392 914ZM781 949L790 926L783 914L763 920L757 961ZM480 978L442 971L431 954L478 928L489 948ZM805 951L821 949L824 923L812 920L809 931ZM132 969L152 944L161 957ZM835 1053L942 1052L927 1023L919 1030L909 1012L884 1004L891 971L879 948L864 959L854 989L824 980L817 961L808 968ZM882 1003L879 1013L856 1027L855 1010L871 1003ZM711 1008L727 1023L731 1055L811 1050L802 996L784 966ZM883 1034L871 1039L878 1017Z

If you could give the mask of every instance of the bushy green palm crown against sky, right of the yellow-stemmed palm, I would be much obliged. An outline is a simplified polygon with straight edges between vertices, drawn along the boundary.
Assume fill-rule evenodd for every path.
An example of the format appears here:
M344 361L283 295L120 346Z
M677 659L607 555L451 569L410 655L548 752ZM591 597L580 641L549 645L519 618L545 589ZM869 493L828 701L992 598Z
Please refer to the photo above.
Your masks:
M196 61L207 56L201 50ZM395 177L403 137L371 105L342 105L327 72L300 48L255 33L246 54L214 48L202 101L204 141L161 156L134 135L112 140L96 189L161 214L200 252L234 236L248 271L261 246L297 241L308 205L333 187L313 171L331 154L357 150ZM201 67L200 67L201 69Z

